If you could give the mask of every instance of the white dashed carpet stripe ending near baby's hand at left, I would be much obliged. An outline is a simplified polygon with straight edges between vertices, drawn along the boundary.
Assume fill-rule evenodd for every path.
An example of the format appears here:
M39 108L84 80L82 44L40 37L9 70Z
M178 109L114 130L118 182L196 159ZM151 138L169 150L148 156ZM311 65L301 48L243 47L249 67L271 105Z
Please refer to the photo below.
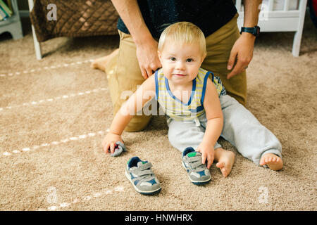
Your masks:
M108 129L106 131L108 131ZM6 151L6 152L2 153L2 155L3 156L10 156L12 154L16 155L18 153L30 152L33 150L37 150L39 148L45 148L45 147L49 147L49 146L58 146L61 143L66 143L68 141L78 141L81 139L87 139L89 137L96 136L97 134L104 135L105 131L97 131L95 133L90 132L88 134L82 134L79 136L72 136L72 137L68 137L66 139L61 139L61 141L52 141L51 143L42 143L42 144L39 144L38 146L24 147L24 148L21 148L20 150L15 149L15 150L12 150L11 152Z

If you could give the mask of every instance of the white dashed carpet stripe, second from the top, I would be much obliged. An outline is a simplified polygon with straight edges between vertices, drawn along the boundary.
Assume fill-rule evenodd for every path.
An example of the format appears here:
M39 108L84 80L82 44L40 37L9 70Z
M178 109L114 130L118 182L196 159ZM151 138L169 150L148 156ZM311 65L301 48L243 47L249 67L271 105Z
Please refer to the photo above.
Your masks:
M60 99L63 99L63 98L64 99L65 98L73 98L73 97L82 96L82 95L85 95L85 94L99 93L101 91L106 91L106 90L108 90L108 89L103 87L103 88L100 88L100 89L93 89L91 91L79 92L77 94L69 94L69 95L58 96L58 97L55 97L55 98L42 99L42 100L39 100L39 101L32 101L30 103L22 103L20 105L10 105L10 106L6 106L6 107L0 108L0 111L3 111L5 109L6 110L11 110L12 108L18 108L18 107L21 107L21 106L37 105L37 104L45 103L45 102L52 102L54 100L60 100Z

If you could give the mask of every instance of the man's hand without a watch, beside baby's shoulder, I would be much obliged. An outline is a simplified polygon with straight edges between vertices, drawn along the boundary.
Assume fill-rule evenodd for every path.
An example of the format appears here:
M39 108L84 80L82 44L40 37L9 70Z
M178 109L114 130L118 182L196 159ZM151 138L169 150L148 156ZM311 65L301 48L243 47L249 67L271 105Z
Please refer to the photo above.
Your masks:
M137 60L144 79L149 78L155 70L162 67L157 54L157 46L158 43L153 38L137 44Z

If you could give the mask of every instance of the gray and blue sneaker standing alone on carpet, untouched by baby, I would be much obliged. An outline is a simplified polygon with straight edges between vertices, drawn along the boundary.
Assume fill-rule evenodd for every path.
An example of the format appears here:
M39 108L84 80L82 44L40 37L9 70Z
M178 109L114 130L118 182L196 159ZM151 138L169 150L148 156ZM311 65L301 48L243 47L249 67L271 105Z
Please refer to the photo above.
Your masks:
M125 176L135 191L143 195L154 195L161 191L161 184L151 167L151 162L142 161L137 156L130 158L125 167Z

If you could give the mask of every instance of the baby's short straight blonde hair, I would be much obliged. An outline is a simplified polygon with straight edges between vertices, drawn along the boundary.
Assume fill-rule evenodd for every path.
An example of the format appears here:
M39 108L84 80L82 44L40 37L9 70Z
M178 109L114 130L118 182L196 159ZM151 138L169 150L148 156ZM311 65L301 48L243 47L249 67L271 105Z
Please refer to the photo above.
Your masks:
M166 41L172 41L177 44L199 44L201 55L206 56L206 39L204 33L193 23L178 22L166 27L159 39L159 51L163 51Z

